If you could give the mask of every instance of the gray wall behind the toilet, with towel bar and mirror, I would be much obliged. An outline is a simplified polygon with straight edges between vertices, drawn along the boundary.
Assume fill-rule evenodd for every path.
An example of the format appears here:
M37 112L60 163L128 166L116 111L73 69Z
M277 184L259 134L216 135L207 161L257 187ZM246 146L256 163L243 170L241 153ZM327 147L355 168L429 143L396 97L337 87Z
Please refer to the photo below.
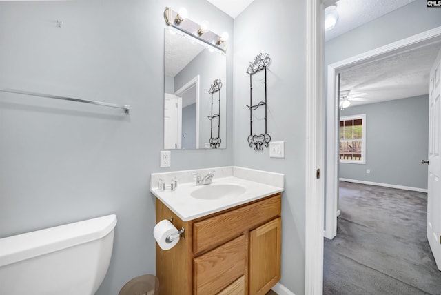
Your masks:
M118 294L130 278L155 273L152 172L232 165L230 145L172 150L172 167L159 167L165 5L185 6L199 23L209 16L212 30L233 34L233 20L203 0L0 1L0 88L131 105L126 116L0 92L0 238L116 214L97 294ZM231 112L232 86L227 94Z

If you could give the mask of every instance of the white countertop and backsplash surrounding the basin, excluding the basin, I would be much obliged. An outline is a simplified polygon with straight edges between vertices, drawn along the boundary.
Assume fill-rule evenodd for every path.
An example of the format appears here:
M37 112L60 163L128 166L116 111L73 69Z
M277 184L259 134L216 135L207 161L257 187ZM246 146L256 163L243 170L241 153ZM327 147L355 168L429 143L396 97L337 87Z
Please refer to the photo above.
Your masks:
M210 169L198 170L198 172L204 174L209 170ZM187 183L180 183L178 181L178 187L176 187L176 190L174 191L160 191L155 187L157 186L159 176L161 176L161 179L165 180L166 185L169 185L167 182L168 179L172 179L172 177L188 179L187 173L190 173L192 176L192 172L196 170L187 172L170 172L169 174L152 174L150 191L183 221L191 221L237 205L261 199L265 196L270 196L271 194L283 192L283 174L247 170L246 168L240 167L221 167L211 170L218 171L223 177L216 177L215 172L213 183L210 185L238 185L244 187L245 192L238 194L237 196L225 196L218 199L196 199L191 196L192 192L207 185L195 185L194 181ZM234 176L234 174L239 176L246 175L245 178L248 179ZM249 178L256 179L256 181L249 180ZM263 181L263 179L265 179L265 181Z

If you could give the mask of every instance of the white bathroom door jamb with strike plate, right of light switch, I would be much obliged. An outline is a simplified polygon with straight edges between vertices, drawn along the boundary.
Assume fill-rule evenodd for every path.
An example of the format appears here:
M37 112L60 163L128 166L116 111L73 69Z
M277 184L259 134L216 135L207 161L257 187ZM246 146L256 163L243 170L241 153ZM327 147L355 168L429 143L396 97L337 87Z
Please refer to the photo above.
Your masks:
M325 149L325 4L307 0L305 128L305 294L323 290L323 214Z

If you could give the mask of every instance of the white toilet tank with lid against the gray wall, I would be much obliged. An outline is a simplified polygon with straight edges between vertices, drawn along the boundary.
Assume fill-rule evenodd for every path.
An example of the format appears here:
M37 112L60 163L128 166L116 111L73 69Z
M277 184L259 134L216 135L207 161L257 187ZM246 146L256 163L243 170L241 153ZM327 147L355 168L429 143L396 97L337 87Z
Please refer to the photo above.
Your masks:
M0 238L1 295L92 295L113 250L108 215Z

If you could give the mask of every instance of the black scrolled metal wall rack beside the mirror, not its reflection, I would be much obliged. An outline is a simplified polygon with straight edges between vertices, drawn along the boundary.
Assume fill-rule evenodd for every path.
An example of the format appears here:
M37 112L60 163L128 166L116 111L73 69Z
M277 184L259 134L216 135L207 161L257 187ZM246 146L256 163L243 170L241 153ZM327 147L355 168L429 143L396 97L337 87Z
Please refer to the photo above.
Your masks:
M254 150L263 150L263 146L268 147L271 141L271 136L267 134L267 66L271 62L269 54L260 53L254 57L254 62L248 64L247 74L249 74L249 136L248 143L251 148L254 145ZM265 70L265 79L263 83L265 84L265 101L260 101L256 105L253 105L253 84L252 76L261 70ZM265 108L265 133L263 134L253 134L253 111L260 107Z

